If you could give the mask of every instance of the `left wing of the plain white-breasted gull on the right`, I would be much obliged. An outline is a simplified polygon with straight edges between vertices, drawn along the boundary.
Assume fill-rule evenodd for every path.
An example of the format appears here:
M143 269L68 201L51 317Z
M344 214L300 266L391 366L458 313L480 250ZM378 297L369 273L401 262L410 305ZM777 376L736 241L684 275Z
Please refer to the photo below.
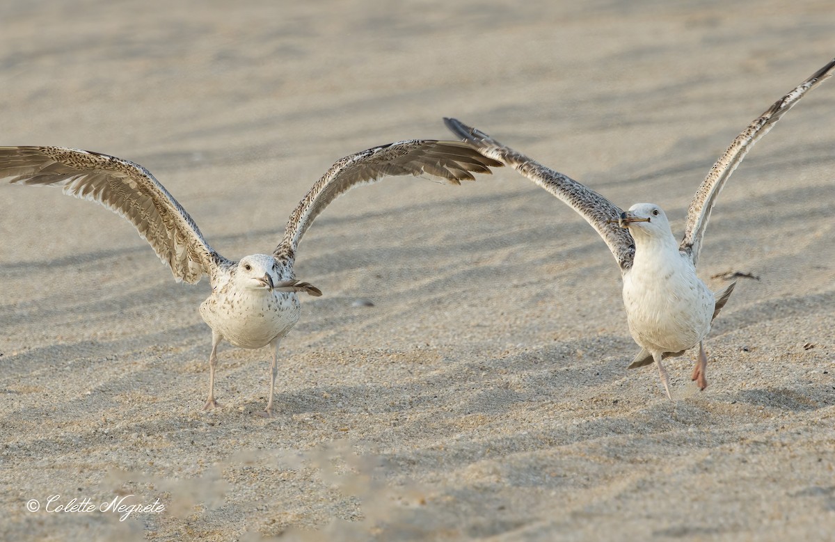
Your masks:
M457 119L443 119L443 122L453 134L472 144L481 154L514 168L577 211L603 237L603 241L615 256L620 271L630 269L635 259L635 241L629 230L621 228L616 222L607 222L617 220L623 212L617 205L588 186L498 143L478 129L470 128Z

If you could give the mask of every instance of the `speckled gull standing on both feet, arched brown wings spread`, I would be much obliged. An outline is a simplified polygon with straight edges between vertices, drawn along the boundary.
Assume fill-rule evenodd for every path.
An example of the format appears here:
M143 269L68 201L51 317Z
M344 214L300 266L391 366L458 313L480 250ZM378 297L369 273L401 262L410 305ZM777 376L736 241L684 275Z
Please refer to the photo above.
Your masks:
M139 164L108 154L63 147L0 147L0 180L20 185L58 186L64 194L92 200L124 216L136 227L175 280L194 284L209 276L210 296L200 316L211 328L209 396L215 400L217 347L270 345L270 393L264 415L272 413L276 387L276 350L299 320L297 292L321 296L293 273L296 250L316 215L347 190L385 176L415 175L453 185L474 180L471 172L491 173L497 161L460 141L410 139L384 144L338 160L307 192L290 215L281 243L272 254L253 254L232 261L213 249L185 209Z

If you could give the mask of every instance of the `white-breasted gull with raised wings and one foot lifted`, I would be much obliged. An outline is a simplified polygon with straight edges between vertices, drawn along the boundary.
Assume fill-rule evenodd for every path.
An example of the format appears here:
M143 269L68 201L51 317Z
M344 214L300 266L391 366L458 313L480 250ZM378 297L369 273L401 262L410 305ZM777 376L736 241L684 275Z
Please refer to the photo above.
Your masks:
M696 190L680 243L676 243L670 223L658 205L639 203L623 211L594 190L498 143L478 129L456 119L444 119L444 123L480 153L513 167L563 200L597 230L620 266L626 319L630 334L640 346L629 368L655 362L667 397L672 399L670 378L661 360L681 356L698 345L692 380L704 390L707 357L703 342L736 285L732 282L713 293L696 276L702 237L716 198L757 140L804 94L829 78L833 70L835 59L777 100L736 136Z

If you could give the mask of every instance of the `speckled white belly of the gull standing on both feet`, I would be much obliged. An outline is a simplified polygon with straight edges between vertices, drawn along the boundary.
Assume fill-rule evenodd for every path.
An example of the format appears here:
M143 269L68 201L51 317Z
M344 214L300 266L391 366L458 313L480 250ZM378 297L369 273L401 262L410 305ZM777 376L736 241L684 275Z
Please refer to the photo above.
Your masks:
M200 305L200 316L226 341L241 348L261 348L284 337L299 321L301 307L295 292L221 291Z

